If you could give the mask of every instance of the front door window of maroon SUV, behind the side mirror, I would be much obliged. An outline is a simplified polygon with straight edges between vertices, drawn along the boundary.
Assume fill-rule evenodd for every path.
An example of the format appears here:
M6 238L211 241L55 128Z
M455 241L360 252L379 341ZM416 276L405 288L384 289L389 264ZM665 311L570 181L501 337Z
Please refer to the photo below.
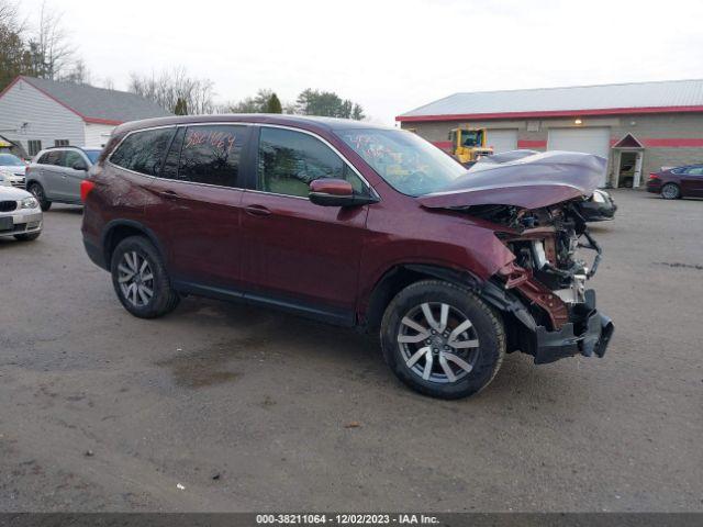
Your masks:
M306 198L310 182L321 178L346 179L356 192L366 190L348 165L320 139L290 130L261 128L259 190Z

